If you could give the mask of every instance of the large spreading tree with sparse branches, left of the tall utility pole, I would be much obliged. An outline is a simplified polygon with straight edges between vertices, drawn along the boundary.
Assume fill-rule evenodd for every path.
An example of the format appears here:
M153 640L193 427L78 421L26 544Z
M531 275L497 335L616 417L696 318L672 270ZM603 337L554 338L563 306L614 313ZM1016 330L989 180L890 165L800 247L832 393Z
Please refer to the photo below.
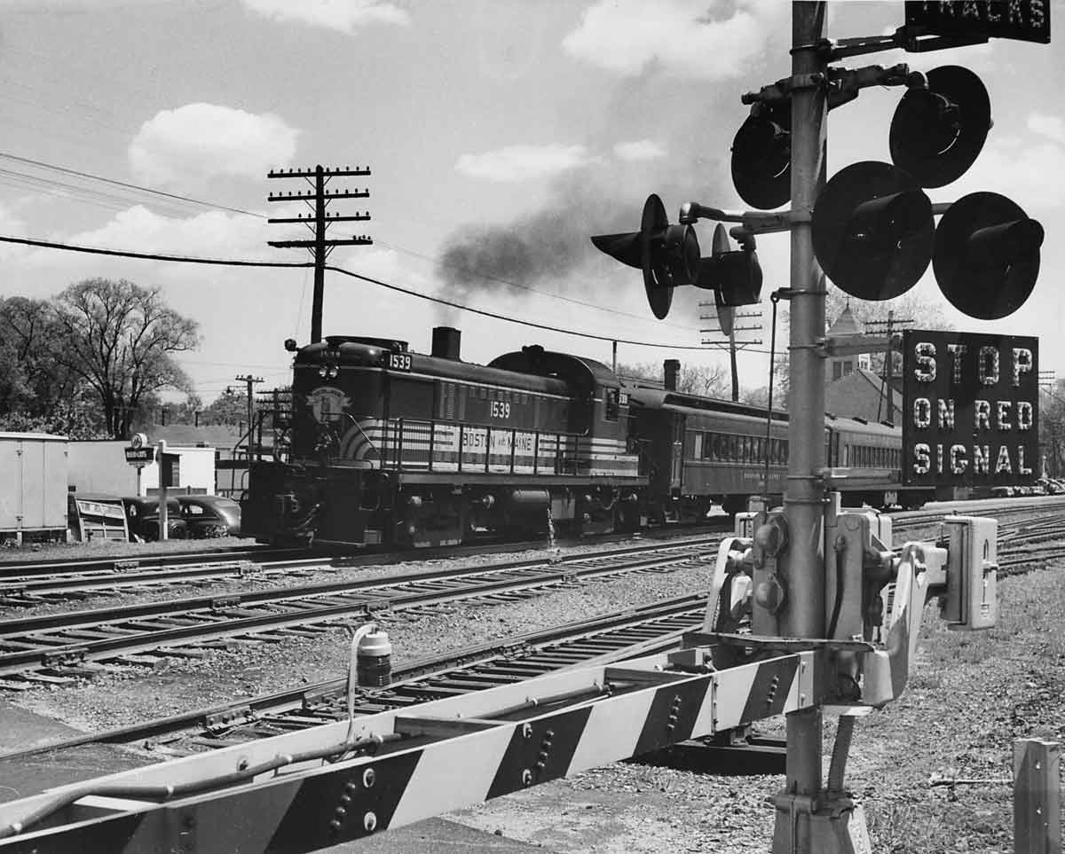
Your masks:
M199 344L197 325L168 308L160 289L86 279L63 291L54 306L62 333L54 358L93 389L110 436L125 439L152 393L190 390L171 355Z

